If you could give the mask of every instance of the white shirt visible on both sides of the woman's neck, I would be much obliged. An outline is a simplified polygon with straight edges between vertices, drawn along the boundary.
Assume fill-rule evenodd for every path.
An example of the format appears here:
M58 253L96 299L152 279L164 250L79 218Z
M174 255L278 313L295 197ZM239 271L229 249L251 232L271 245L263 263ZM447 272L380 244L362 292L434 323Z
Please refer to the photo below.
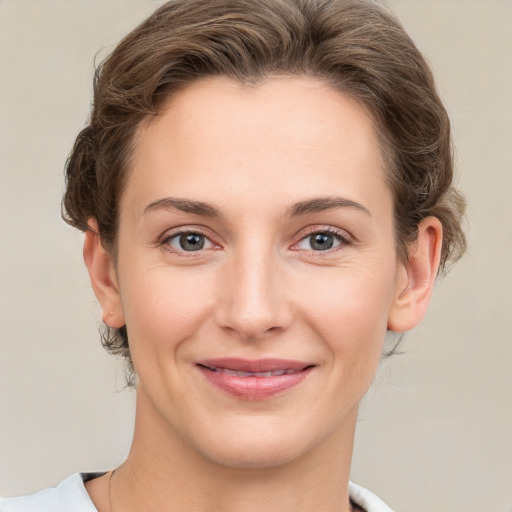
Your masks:
M29 496L0 498L0 512L98 512L84 482L102 474L76 473L56 487ZM352 482L349 495L351 501L366 512L393 512L375 494Z

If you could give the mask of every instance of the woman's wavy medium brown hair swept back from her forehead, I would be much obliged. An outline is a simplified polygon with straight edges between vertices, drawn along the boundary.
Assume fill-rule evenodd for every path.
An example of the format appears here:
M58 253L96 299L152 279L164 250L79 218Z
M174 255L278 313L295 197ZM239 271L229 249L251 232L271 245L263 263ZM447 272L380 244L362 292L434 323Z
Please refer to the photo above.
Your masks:
M432 73L403 27L372 0L172 0L125 37L97 68L89 124L67 162L63 218L115 250L118 206L140 122L206 77L258 84L316 77L359 101L375 121L394 197L397 249L419 222L443 225L440 271L465 250L465 202L453 188L450 122ZM104 345L131 365L126 328Z

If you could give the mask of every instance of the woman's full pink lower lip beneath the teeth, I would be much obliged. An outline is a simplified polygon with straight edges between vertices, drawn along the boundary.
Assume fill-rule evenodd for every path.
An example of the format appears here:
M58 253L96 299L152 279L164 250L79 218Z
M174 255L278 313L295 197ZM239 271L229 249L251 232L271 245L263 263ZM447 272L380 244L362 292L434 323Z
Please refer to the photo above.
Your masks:
M231 396L244 400L265 400L280 395L300 384L313 367L297 373L273 377L238 377L197 366L202 374L215 386Z

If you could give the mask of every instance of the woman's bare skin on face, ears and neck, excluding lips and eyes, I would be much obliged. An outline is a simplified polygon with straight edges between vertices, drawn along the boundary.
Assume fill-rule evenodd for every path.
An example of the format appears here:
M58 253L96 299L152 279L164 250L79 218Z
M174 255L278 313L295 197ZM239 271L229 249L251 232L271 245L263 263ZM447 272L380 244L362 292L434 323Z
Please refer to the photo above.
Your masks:
M187 231L206 237L202 250L181 248ZM314 233L333 247L318 250ZM441 235L423 220L399 260L372 119L319 81L215 78L174 96L138 130L117 260L93 230L84 245L104 321L127 325L139 378L112 509L350 510L358 404L386 331L426 312ZM314 368L247 400L198 371L219 357ZM100 512L109 477L87 484Z

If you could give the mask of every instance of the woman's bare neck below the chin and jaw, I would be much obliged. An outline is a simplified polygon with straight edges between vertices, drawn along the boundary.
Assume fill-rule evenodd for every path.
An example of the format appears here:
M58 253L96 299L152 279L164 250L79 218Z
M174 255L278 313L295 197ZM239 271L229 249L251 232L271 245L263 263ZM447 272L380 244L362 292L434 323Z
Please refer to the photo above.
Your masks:
M354 410L345 425L292 461L229 467L198 453L139 392L130 454L113 479L112 512L348 512L356 419Z

